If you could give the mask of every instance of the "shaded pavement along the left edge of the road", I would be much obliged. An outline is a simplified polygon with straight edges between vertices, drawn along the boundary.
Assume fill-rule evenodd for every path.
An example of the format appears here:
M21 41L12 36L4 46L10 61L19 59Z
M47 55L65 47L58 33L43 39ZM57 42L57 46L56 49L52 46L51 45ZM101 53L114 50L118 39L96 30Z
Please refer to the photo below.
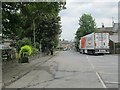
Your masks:
M9 63L1 65L3 68L1 71L2 78L0 78L2 82L1 86L4 88L5 86L14 83L15 81L28 74L35 66L46 62L47 60L54 57L57 53L58 52L56 51L54 55L44 56L42 54L38 54L37 56L32 56L29 58L29 63L16 63L14 61L11 61Z

